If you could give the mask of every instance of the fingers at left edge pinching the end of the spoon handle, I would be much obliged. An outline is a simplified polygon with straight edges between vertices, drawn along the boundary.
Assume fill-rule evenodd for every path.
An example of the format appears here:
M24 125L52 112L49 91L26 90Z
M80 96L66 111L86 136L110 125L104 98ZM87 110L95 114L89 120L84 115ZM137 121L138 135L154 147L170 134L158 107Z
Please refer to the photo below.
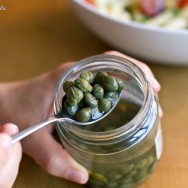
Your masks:
M13 124L0 126L0 187L11 188L21 160L21 144L11 144L10 135L16 134L18 127Z

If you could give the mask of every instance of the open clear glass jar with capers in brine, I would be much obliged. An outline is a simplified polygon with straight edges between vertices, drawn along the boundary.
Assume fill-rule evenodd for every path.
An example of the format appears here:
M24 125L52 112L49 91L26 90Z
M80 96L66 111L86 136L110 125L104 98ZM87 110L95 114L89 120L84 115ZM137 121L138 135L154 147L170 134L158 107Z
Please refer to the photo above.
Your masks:
M162 153L155 93L134 63L122 57L99 55L76 63L62 76L55 94L55 113L62 109L65 80L75 80L85 71L105 71L123 80L125 88L115 109L98 123L57 123L62 144L88 169L89 187L136 187L155 169Z

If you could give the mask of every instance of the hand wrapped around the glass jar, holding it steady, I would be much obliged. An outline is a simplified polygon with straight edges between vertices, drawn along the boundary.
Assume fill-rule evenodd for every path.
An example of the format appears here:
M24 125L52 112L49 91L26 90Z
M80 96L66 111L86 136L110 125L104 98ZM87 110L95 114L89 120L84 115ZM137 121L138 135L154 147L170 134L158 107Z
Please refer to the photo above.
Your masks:
M144 63L119 52L107 53L131 59L146 73L155 92L159 92L160 85ZM52 115L57 81L60 75L72 65L72 63L64 63L57 69L31 80L1 84L0 119L19 124L20 129L24 129ZM48 126L23 139L24 152L49 174L81 184L86 183L88 180L86 169L76 163L67 151L62 149L61 145L52 137L52 131L53 127Z

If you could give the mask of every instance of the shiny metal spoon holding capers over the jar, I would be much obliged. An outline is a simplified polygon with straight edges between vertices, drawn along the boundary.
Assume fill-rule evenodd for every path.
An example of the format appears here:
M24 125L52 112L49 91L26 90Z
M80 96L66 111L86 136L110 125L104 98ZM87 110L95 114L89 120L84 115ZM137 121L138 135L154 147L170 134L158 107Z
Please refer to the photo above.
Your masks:
M24 130L22 130L21 132L19 132L18 134L15 134L12 136L12 144L18 142L19 140L25 138L26 136L30 135L31 133L45 127L46 125L49 125L49 124L52 124L52 123L55 123L55 122L70 122L72 124L76 124L76 125L90 125L90 124L93 124L93 123L96 123L100 120L102 120L104 117L106 117L114 108L115 106L117 105L119 99L120 99L120 96L121 94L119 94L118 96L118 99L115 100L115 101L112 101L112 108L106 112L106 113L98 113L97 114L97 118L95 119L91 119L90 121L88 122L79 122L79 121L76 121L76 119L73 119L72 116L68 115L67 112L62 109L61 112L59 112L58 114L55 114L43 121L40 121L39 123L36 123ZM64 100L64 99L63 99ZM94 114L95 111L92 111L92 113Z

